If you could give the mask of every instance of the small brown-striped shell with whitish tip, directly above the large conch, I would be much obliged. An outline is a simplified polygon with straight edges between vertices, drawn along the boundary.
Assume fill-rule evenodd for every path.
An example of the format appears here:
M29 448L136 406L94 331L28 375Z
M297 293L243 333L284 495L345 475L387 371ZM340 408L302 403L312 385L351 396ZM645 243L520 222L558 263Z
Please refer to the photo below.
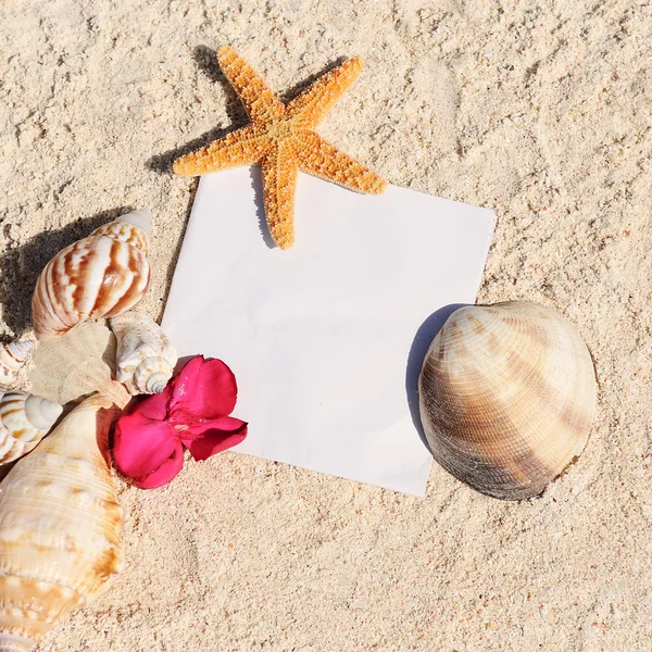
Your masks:
M28 453L61 415L59 403L0 386L0 464ZM1 648L0 648L1 650Z

